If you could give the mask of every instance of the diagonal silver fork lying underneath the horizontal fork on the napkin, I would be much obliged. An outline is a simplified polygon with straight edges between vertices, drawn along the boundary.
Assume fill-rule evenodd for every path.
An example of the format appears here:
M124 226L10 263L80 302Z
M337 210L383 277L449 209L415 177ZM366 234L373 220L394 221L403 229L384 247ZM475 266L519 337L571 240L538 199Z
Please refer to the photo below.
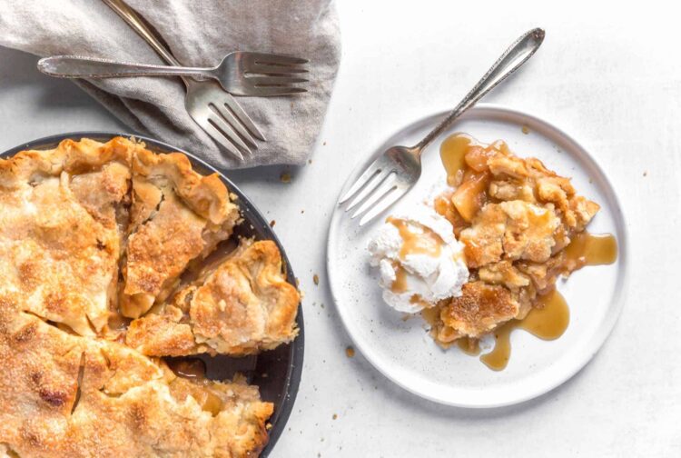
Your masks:
M123 20L133 27L170 65L181 64L166 49L161 40L143 22L137 13L123 0L104 0ZM243 160L243 153L252 154L257 149L253 137L265 141L264 135L253 124L249 115L237 104L232 95L224 92L214 81L197 81L181 76L187 87L184 106L192 119L229 153ZM248 144L246 144L248 143Z

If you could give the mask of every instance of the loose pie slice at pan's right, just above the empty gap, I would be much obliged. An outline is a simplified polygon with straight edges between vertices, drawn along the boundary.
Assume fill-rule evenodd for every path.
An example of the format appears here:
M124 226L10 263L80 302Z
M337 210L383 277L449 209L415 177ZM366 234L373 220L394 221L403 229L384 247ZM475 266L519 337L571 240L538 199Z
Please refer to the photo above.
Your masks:
M183 288L174 306L134 320L126 343L153 356L271 350L298 333L299 302L281 272L277 245L243 243L205 279Z

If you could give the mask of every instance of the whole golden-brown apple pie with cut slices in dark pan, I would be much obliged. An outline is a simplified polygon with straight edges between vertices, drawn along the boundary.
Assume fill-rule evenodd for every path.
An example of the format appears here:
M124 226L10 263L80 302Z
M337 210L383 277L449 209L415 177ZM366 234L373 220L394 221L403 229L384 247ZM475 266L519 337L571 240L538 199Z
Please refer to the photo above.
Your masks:
M276 244L202 265L240 220L216 174L122 137L0 160L0 455L260 453L273 405L257 387L160 357L297 334Z

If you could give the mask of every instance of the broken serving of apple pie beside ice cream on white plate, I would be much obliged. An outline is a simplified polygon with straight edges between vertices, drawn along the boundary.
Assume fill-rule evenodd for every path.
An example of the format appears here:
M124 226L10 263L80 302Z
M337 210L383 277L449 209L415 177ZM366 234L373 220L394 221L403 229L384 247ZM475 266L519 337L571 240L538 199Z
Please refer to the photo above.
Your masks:
M426 314L442 346L524 318L559 275L584 265L566 248L599 209L568 178L512 154L502 141L479 144L458 134L446 142L455 146L443 156L451 188L434 206L464 245L470 276L459 297Z

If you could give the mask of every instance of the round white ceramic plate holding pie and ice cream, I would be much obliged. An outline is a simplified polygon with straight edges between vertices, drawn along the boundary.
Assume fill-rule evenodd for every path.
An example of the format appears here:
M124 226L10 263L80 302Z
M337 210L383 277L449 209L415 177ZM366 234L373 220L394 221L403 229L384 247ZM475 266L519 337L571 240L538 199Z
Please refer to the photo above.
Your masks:
M394 144L416 144L444 114L410 124L375 150L370 161ZM528 134L522 127L527 126ZM626 276L627 235L617 196L606 174L577 142L552 124L531 115L495 105L471 109L451 129L484 143L505 140L514 153L535 156L549 169L572 177L579 194L601 205L589 224L591 233L615 234L619 244L616 264L587 266L558 281L570 307L568 330L558 340L543 341L524 331L511 334L512 352L505 370L494 372L453 347L443 351L426 332L419 316L403 321L383 303L377 275L370 269L366 244L384 217L359 228L357 220L339 206L331 218L327 269L331 294L343 324L360 352L381 373L412 393L429 400L462 407L498 407L520 403L564 383L598 351L620 314L620 292ZM419 183L390 213L400 212L428 195L444 180L439 142L423 156ZM370 161L367 163L369 164ZM342 195L365 169L358 167ZM385 216L385 215L384 215Z

